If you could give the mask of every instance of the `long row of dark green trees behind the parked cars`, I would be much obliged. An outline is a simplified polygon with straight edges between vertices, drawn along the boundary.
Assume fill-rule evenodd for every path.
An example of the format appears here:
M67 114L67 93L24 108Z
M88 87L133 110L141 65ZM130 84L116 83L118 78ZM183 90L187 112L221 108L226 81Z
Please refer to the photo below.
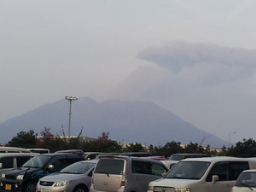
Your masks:
M50 128L44 127L44 131L35 133L33 130L20 131L17 136L13 137L9 147L20 148L48 148L50 152L65 149L82 149L84 152L102 152L102 153L123 153L123 152L149 152L152 155L169 157L171 154L207 154L209 156L234 156L234 157L256 157L256 142L252 139L243 139L242 142L232 145L230 148L223 146L220 150L212 149L210 145L201 146L198 143L189 143L183 145L179 142L171 141L163 146L150 145L148 148L143 147L141 143L131 143L125 148L122 143L118 143L109 138L109 132L102 132L102 136L93 141L84 141L79 134L78 137L65 137L53 135Z

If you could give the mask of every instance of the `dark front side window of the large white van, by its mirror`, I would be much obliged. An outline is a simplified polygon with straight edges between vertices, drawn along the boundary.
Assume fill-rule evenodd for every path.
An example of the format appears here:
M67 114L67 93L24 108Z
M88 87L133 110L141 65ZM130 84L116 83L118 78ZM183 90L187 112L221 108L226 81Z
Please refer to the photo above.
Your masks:
M218 181L228 181L229 180L229 163L219 162L212 166L212 170L207 176L207 182L212 181L212 176L218 175Z

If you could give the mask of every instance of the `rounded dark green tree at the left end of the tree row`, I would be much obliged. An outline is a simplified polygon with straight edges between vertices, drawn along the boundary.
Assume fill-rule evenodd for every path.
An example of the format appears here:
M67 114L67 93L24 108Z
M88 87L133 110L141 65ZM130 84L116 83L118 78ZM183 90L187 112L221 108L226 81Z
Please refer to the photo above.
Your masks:
M13 137L7 144L9 147L19 148L35 148L37 144L37 136L34 131L20 131L16 137Z

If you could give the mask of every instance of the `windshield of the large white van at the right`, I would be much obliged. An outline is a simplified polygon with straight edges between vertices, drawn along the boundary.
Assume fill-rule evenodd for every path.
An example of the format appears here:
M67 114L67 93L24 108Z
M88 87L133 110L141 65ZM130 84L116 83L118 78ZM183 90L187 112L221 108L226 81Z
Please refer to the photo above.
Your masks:
M172 167L165 178L201 179L210 164L204 161L180 161Z

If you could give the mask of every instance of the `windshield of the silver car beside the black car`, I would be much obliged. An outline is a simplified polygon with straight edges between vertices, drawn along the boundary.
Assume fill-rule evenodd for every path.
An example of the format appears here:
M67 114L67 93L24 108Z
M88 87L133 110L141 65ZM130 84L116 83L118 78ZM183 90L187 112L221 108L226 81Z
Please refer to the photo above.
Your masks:
M95 166L96 163L92 162L77 162L61 170L61 173L72 173L72 174L84 174L88 172L91 167Z

